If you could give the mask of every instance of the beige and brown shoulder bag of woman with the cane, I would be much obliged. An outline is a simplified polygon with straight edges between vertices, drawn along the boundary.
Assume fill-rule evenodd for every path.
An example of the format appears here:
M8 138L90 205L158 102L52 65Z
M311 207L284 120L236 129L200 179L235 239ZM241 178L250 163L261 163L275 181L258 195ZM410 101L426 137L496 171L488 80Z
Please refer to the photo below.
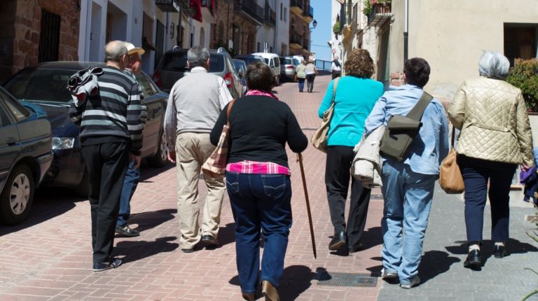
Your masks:
M226 162L228 162L228 142L230 140L228 131L230 130L230 111L233 102L235 102L235 99L230 102L228 109L226 110L227 122L226 125L222 127L219 143L216 144L215 150L202 165L202 171L211 174L214 177L222 176L226 172Z

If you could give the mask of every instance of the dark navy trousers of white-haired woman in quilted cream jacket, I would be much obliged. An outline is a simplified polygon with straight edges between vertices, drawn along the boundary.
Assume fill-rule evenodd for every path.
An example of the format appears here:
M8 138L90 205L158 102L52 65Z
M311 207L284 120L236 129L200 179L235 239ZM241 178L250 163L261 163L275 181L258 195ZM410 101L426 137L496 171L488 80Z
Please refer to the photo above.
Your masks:
M496 242L507 241L510 185L517 165L464 155L457 156L457 164L460 165L465 183L467 241L482 241L484 207L488 195L491 207L491 239Z

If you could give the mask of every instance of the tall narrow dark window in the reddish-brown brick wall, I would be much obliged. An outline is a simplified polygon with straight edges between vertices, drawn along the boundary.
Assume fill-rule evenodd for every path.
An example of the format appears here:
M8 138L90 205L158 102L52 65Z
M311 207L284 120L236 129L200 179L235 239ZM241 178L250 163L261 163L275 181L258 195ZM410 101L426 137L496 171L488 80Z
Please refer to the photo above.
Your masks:
M58 60L60 48L60 15L41 10L41 34L39 34L38 62Z

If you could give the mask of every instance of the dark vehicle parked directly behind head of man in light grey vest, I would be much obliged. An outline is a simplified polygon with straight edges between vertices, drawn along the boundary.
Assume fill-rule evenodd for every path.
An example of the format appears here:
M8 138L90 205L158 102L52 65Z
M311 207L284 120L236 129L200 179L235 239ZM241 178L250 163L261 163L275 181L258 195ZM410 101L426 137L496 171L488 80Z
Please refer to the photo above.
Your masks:
M191 73L191 69L187 66L187 51L188 49L168 50L153 72L153 81L165 92L170 93L170 89L179 78ZM224 78L234 99L241 96L243 90L241 80L233 66L232 57L224 48L209 50L209 72Z

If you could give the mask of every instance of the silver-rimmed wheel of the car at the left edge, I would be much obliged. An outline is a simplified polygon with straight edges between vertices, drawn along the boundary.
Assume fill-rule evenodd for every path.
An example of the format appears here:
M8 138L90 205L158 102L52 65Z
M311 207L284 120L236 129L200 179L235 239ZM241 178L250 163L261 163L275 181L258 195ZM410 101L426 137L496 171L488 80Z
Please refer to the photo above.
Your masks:
M0 194L0 216L5 225L25 221L34 201L34 176L27 165L17 165Z

